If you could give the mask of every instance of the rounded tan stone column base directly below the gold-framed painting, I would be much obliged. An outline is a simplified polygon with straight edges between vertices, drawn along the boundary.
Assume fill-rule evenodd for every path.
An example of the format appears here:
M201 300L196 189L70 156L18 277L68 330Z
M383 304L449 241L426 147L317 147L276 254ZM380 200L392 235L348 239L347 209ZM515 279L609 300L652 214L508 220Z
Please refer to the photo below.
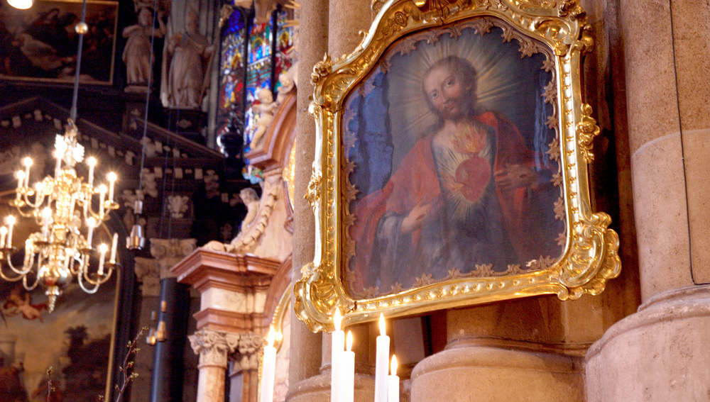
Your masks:
M581 360L501 347L454 347L417 364L411 401L582 401Z

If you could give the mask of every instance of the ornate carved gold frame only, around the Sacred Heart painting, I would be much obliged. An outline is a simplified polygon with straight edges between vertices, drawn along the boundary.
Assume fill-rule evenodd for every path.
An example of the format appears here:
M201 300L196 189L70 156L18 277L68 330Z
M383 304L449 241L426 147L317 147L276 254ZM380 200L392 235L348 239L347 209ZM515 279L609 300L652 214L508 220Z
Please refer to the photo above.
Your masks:
M361 45L337 60L326 55L311 75L317 147L305 197L315 213L316 245L314 261L302 267L302 279L294 287L298 318L314 332L329 331L335 308L343 311L344 325L349 325L373 320L379 313L405 316L524 296L557 294L566 300L603 291L606 281L618 276L621 262L618 235L608 229L611 219L592 212L589 200L587 164L594 158L591 141L599 128L591 107L581 99L581 56L591 51L593 40L579 0L375 0L372 7L379 11ZM567 226L562 258L535 272L458 277L386 296L352 298L339 270L354 250L347 233L353 220L347 206L356 190L347 179L351 167L344 159L341 132L346 96L395 40L474 17L513 28L510 35L520 41L521 52L526 41L533 42L530 39L551 50L556 86L546 95L555 106L548 123L557 128L557 138L550 151L560 165L557 180L564 206L559 207L564 208Z

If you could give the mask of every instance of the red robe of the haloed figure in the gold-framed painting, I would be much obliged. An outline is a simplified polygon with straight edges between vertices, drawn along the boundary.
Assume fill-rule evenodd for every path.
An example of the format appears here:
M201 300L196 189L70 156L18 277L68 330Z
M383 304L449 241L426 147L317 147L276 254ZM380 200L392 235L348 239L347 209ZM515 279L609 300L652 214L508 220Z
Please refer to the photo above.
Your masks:
M533 153L528 150L518 128L506 118L493 112L486 112L475 119L493 128L496 135L496 154L493 162L493 174L508 165L522 164L533 166ZM415 206L436 201L441 195L442 184L439 183L437 168L432 155L432 140L434 134L419 140L382 189L368 194L357 204L354 216L356 221L351 227L351 238L356 242L354 269L356 293L376 284L371 283L373 273L373 239L376 238L378 223L385 213L395 213L406 216ZM500 220L509 234L518 259L532 255L534 243L537 240L529 235L531 228L528 214L529 188L509 189L507 191L496 186L496 196L500 205ZM419 228L410 235L411 250L417 250L420 245L422 229ZM525 260L523 260L525 261ZM407 278L408 262L398 264L396 268L403 280L398 281L407 289L413 278ZM468 267L457 267L461 272L473 269L474 262ZM451 269L453 267L449 267ZM506 267L503 267L506 268ZM411 272L411 271L410 271ZM442 278L434 278L442 279ZM393 283L383 281L387 289L379 289L381 294L389 293Z

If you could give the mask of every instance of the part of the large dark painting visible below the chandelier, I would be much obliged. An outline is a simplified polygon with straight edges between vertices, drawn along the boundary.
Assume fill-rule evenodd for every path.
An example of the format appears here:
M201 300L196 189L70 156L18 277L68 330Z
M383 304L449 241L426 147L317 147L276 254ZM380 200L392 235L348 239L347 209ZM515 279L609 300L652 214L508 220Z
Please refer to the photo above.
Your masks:
M52 313L42 289L0 282L0 401L47 400L50 367L52 401L109 395L117 276L92 295L70 285Z

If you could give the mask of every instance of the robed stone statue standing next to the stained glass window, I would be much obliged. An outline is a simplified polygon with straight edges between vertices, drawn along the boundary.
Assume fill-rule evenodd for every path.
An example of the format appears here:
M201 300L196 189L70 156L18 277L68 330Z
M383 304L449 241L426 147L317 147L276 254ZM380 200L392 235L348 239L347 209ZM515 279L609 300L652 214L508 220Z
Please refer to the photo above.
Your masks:
M185 15L185 33L176 33L165 46L160 100L168 108L199 108L209 86L214 46L197 30L197 11Z

